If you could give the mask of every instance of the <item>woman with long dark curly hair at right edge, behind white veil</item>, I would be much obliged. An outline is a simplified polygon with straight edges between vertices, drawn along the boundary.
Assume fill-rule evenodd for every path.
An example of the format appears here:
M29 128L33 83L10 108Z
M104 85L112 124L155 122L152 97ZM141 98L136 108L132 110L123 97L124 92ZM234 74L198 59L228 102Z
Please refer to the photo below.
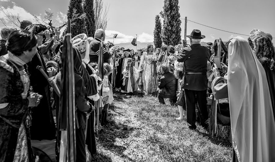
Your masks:
M275 118L275 50L271 40L262 35L255 39L254 51L266 72L273 115Z

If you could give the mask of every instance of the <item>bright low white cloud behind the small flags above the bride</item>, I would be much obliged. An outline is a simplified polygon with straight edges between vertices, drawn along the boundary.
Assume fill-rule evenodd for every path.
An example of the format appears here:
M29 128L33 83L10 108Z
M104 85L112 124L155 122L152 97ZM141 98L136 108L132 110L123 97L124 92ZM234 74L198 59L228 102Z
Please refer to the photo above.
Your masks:
M128 43L132 42L135 35L125 35L119 31L113 31L113 30L105 30L105 42L110 41L113 42L113 35L112 34L118 34L115 38L115 43ZM153 42L154 36L150 35L148 33L141 33L138 34L138 41L139 42Z

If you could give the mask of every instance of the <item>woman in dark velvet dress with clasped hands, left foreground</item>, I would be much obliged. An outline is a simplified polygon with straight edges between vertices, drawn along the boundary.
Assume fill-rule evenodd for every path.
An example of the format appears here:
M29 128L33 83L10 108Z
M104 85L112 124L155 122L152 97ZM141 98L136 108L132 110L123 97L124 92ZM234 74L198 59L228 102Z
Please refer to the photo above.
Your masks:
M31 32L13 31L8 54L0 57L0 161L35 161L31 149L28 107L39 105L41 95L29 95L28 66L36 53L37 38Z

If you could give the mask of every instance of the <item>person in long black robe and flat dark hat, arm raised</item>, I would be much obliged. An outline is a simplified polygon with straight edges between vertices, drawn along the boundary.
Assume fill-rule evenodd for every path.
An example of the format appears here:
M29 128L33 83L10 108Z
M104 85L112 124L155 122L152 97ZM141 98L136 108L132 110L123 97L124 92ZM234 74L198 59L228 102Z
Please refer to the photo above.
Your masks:
M49 76L52 76L56 73L56 69L53 67L46 69L46 64L42 54L47 53L47 51L51 48L51 46L53 46L53 43L56 41L59 35L58 33L56 33L57 36L48 39L47 42L42 44L44 39L46 38L44 34L44 31L47 29L46 26L42 24L32 24L29 25L25 30L31 30L32 28L35 28L34 34L38 38L38 48L36 55L27 65L31 80L31 89L33 92L41 94L43 98L41 99L41 104L31 110L31 139L53 140L55 139L56 128L53 120L52 109L50 106L50 87L47 79L36 67L41 66L45 73Z

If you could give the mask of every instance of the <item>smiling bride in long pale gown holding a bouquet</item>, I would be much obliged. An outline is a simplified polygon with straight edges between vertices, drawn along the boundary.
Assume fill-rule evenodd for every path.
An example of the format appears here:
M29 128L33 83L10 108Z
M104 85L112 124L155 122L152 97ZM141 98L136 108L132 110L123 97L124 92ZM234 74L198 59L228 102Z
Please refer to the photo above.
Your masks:
M147 45L147 51L142 54L141 62L139 64L139 70L142 68L142 88L141 93L152 94L156 91L157 84L157 62L151 61L152 57L156 57L156 54L152 52L153 45Z

